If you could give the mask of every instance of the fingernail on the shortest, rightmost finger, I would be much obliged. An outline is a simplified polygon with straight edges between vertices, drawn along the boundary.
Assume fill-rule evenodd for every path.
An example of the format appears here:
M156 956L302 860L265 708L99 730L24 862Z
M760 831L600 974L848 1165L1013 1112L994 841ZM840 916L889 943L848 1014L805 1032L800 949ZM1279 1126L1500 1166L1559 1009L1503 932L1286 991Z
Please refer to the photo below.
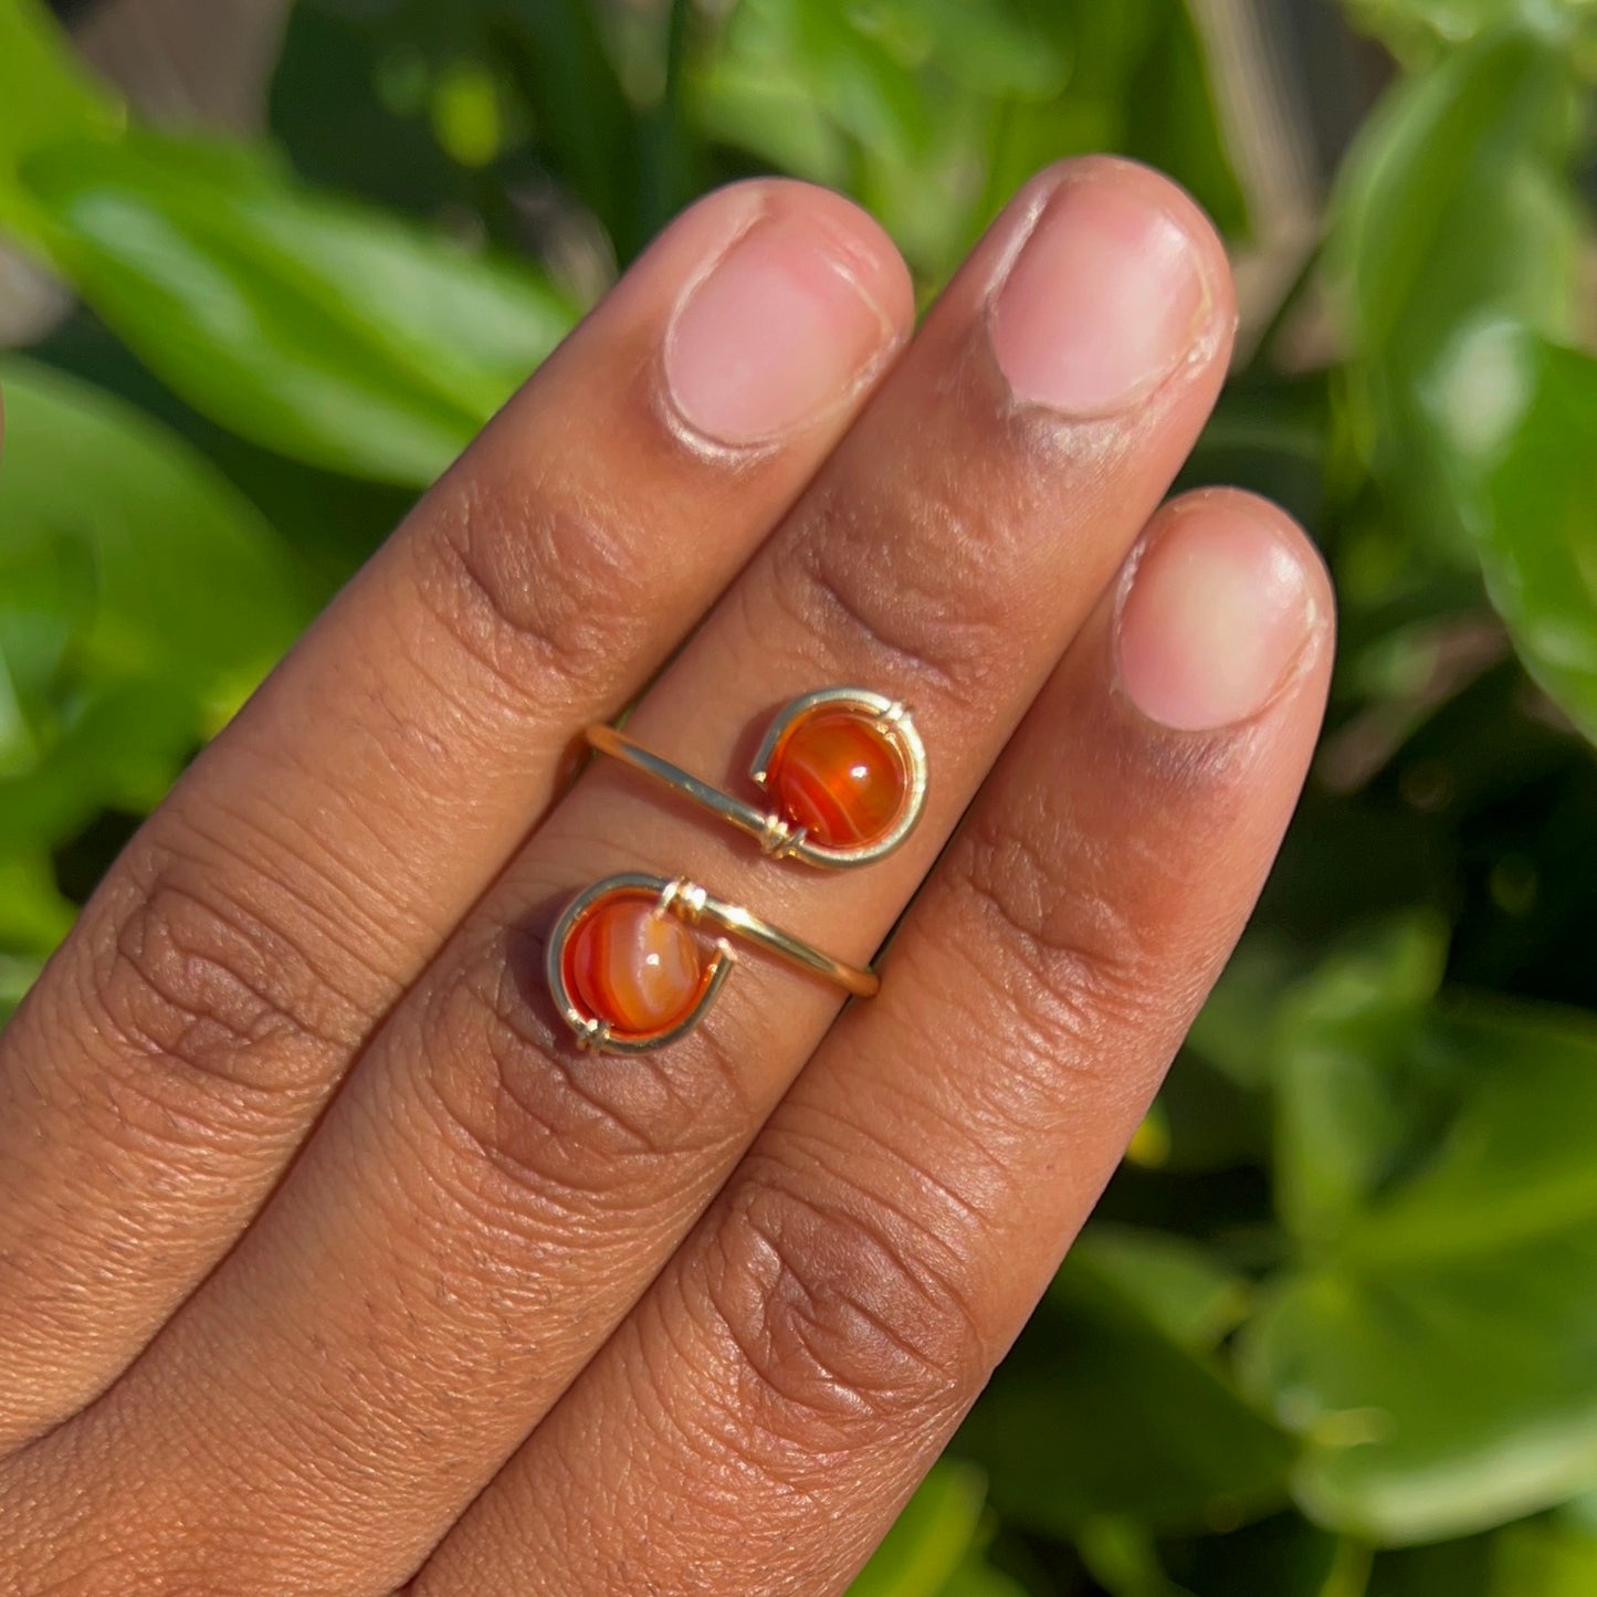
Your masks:
M1215 731L1257 715L1316 624L1314 585L1263 513L1172 513L1119 613L1119 682L1150 720Z

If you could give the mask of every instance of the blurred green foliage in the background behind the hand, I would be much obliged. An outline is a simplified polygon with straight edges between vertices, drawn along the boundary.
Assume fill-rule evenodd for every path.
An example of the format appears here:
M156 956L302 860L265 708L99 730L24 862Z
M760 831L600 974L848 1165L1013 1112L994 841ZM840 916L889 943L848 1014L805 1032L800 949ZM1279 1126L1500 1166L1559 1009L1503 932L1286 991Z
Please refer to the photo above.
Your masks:
M1343 13L1389 81L1187 474L1332 565L1316 776L862 1597L1597 1591L1597 8ZM0 228L80 300L0 361L0 1019L695 193L843 187L931 295L1033 168L1118 149L1246 244L1206 37L1183 0L300 0L241 145L137 126L0 0Z

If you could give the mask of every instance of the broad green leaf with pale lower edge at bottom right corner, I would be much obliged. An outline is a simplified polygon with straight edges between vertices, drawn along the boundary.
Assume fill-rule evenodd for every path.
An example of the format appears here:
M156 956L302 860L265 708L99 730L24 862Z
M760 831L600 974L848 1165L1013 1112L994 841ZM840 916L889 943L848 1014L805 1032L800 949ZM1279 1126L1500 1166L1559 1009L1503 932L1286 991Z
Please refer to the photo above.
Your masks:
M1247 1388L1311 1444L1298 1501L1383 1544L1597 1479L1597 1020L1448 1003L1417 1028L1453 1110L1246 1329Z

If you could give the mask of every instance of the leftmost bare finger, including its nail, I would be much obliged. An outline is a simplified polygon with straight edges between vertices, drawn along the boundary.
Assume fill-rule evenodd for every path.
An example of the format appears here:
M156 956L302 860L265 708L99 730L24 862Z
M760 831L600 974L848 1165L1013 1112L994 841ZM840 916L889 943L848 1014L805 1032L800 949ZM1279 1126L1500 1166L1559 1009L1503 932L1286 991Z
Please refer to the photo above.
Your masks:
M746 561L910 315L846 201L706 200L139 834L0 1044L0 1445L232 1246L578 728Z

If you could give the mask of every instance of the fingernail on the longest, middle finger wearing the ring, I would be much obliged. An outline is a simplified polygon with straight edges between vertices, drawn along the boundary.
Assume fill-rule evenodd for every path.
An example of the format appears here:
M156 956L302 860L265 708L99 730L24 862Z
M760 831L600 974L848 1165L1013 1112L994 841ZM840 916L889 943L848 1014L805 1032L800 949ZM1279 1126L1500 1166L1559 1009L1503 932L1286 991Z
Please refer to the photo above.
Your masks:
M1067 180L998 292L993 353L1016 398L1105 417L1180 366L1211 310L1180 222L1137 185Z

